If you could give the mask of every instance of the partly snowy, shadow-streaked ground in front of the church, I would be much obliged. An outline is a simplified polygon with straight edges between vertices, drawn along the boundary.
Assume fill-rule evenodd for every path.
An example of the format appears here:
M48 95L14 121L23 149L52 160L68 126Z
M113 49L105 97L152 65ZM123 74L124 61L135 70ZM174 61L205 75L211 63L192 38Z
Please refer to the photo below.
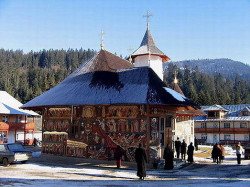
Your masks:
M228 158L223 164L210 159L196 159L173 170L154 170L148 166L145 181L138 180L136 165L115 161L42 155L26 164L0 165L0 186L250 186L250 160L237 165Z

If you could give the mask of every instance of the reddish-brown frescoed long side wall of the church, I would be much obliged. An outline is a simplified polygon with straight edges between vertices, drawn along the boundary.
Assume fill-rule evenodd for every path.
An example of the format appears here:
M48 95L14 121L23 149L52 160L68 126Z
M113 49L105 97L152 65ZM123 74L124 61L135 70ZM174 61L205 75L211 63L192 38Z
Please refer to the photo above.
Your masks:
M146 146L145 115L144 105L79 106L73 108L71 123L71 108L47 109L44 112L43 131L66 132L68 140L85 143L87 147L68 144L64 148L63 143L59 146L54 142L54 138L58 137L46 136L43 151L93 159L113 159L114 149L120 145L125 153L124 159L132 161L139 143Z

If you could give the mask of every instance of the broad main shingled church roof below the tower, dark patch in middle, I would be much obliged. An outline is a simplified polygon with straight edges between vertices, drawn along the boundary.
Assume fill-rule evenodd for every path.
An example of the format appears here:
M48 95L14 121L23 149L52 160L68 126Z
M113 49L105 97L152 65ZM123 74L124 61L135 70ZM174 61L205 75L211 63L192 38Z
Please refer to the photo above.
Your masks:
M40 110L44 106L130 103L198 108L185 96L166 88L151 68L131 66L120 57L101 50L60 84L22 108Z

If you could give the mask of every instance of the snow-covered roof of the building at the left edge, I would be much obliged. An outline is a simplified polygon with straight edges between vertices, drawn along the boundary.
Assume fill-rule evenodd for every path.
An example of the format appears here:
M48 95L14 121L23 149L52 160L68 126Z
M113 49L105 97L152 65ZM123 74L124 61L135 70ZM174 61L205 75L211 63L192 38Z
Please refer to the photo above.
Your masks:
M39 115L30 110L20 109L23 104L8 94L6 91L0 91L0 114L19 114L19 115Z

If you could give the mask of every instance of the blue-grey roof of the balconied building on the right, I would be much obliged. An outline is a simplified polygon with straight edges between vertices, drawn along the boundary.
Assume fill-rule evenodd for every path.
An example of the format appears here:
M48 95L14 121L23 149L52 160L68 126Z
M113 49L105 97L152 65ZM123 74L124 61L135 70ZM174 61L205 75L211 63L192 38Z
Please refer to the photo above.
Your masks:
M214 105L213 105L214 106ZM241 111L246 111L250 108L250 104L240 104L240 105L219 105L227 111L225 118L223 119L211 119L207 116L195 117L195 121L250 121L250 116L239 116ZM207 108L212 106L201 106L201 110L207 111ZM216 111L216 110L215 110Z

